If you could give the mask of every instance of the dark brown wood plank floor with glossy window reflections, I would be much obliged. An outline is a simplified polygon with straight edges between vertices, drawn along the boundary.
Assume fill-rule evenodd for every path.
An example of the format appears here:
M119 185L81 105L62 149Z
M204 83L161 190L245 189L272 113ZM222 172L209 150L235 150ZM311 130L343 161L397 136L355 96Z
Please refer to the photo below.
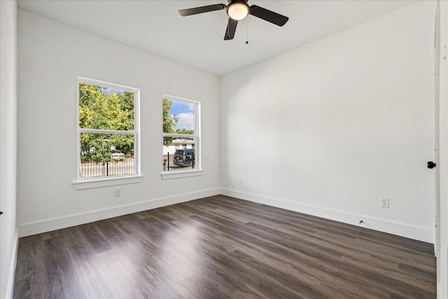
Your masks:
M227 196L20 238L14 298L436 298L433 245Z

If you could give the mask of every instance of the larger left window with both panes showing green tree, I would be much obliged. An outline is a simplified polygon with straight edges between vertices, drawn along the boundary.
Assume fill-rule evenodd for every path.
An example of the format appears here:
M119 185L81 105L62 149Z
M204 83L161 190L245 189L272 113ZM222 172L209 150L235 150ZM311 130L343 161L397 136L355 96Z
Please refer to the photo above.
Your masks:
M139 89L78 78L78 179L139 175Z

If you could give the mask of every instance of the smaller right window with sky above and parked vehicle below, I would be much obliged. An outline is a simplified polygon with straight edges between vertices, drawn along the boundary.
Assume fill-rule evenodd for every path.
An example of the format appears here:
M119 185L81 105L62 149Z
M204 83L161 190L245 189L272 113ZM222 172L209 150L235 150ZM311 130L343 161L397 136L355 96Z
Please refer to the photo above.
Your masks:
M163 170L200 169L200 103L174 96L163 99Z

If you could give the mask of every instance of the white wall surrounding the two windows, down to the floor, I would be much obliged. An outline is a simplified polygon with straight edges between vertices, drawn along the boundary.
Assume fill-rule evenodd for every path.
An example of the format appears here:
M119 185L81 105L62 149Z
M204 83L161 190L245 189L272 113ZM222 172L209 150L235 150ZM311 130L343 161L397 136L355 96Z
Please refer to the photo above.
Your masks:
M142 38L151 38L143 36ZM219 78L19 10L20 235L220 192ZM137 87L138 184L75 190L76 76ZM162 96L202 102L202 176L162 180Z

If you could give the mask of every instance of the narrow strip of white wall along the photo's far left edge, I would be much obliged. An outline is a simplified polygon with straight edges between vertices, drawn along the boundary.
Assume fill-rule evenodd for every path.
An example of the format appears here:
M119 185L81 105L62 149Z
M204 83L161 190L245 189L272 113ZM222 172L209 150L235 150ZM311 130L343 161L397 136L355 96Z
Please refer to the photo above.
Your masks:
M0 298L12 294L18 246L17 21L16 1L0 1Z

